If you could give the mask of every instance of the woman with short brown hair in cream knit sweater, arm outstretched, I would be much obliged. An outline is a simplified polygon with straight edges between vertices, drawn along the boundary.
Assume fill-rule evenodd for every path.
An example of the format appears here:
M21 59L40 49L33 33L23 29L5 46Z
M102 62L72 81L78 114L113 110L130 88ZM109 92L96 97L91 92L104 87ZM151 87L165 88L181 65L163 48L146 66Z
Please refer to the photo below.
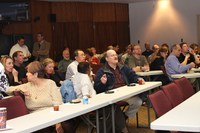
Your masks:
M40 62L31 62L27 66L26 75L28 78L28 83L18 86L11 86L8 88L7 93L12 94L13 91L20 90L25 96L25 103L30 113L50 108L53 106L53 102L62 104L61 95L55 82L50 79L43 78L44 68ZM64 131L74 133L73 125L69 124L68 129L64 128ZM51 131L45 130L39 132Z

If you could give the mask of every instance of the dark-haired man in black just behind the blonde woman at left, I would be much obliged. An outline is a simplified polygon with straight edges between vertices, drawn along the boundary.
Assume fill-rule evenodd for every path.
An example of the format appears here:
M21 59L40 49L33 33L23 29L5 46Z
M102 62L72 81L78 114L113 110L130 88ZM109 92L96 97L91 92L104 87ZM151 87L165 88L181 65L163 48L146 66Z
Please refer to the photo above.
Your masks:
M14 61L14 68L18 72L18 80L22 81L23 79L26 78L26 72L27 72L25 65L23 64L24 55L21 51L16 51L14 52L12 58Z

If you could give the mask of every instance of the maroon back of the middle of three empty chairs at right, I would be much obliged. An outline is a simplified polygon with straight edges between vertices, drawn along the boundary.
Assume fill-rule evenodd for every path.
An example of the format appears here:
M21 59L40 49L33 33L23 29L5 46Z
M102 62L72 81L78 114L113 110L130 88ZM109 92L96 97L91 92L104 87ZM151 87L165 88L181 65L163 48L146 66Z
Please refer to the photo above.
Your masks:
M162 86L162 89L173 107L183 102L183 94L175 83Z

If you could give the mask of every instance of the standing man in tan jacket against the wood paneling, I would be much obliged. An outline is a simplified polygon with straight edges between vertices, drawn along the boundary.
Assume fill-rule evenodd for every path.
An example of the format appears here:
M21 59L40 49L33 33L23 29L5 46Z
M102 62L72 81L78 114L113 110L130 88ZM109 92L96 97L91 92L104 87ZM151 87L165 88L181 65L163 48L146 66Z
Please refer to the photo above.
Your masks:
M35 60L42 61L49 57L50 43L44 40L42 33L37 33L37 42L33 44L33 56Z

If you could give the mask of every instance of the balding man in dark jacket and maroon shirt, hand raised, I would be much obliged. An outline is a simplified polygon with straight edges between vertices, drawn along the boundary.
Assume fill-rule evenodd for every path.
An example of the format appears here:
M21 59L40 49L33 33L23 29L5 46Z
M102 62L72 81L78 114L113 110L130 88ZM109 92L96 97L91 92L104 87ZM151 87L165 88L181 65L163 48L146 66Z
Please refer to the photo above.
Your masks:
M137 82L139 77L130 68L118 63L117 53L114 50L106 52L106 63L97 72L94 87L97 93L115 89L130 83ZM141 78L142 79L142 78ZM144 80L142 79L144 83ZM142 105L142 100L138 96L133 96L125 99L129 104L125 115L133 118L135 113Z

